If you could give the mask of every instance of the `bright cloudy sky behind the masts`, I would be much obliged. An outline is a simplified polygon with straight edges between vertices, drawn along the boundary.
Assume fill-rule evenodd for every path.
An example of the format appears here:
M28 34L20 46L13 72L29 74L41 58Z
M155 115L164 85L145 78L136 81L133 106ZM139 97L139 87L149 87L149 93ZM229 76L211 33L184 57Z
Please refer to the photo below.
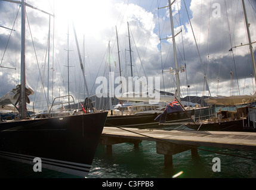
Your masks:
M161 90L175 92L175 75L162 73L175 67L172 39L164 40L172 36L169 9L158 9L165 7L167 0L26 2L55 15L50 19L45 13L26 8L26 80L36 92L30 97L35 105L43 104L47 97L48 68L50 99L67 94L68 55L70 94L78 101L84 100L84 80L72 23L78 35L91 94L95 94L98 85L95 84L96 78L107 77L109 73L109 44L110 53L115 59L110 64L111 71L115 72L116 77L119 76L116 29L122 76L131 76L127 23L133 76L161 77ZM255 42L256 4L254 0L245 0L245 5L251 39ZM19 5L0 1L0 97L20 83L20 12ZM178 0L172 5L172 15L175 34L182 30L175 40L178 66L186 65L186 72L180 73L183 97L209 95L209 91L203 91L204 76L211 96L254 93L256 89L249 46L235 48L241 43L248 43L241 0ZM12 28L15 31L11 31ZM229 51L232 47L233 51Z

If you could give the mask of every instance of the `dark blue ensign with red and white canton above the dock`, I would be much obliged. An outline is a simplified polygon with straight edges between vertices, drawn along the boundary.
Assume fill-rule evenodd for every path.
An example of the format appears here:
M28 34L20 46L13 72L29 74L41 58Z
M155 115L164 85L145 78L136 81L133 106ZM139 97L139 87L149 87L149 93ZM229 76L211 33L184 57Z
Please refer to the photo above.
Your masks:
M169 113L181 112L181 111L183 111L183 109L180 106L180 103L178 103L178 101L174 99L171 103L168 104L168 106L165 107L164 112L155 118L155 121L160 122L160 124L163 124L166 120L166 116Z

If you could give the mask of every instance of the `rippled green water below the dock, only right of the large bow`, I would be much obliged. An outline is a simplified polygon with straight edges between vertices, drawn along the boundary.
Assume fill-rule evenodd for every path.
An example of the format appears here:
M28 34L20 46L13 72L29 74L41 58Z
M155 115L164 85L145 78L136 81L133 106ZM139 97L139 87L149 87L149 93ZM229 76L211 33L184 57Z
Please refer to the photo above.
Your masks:
M113 145L112 154L106 153L106 147L98 146L87 178L256 178L255 151L228 150L222 148L201 147L205 150L239 155L233 157L199 150L199 156L192 157L191 151L173 156L173 167L164 166L164 156L156 153L156 144L143 141L139 147L124 143ZM212 159L221 160L221 171L213 172Z

